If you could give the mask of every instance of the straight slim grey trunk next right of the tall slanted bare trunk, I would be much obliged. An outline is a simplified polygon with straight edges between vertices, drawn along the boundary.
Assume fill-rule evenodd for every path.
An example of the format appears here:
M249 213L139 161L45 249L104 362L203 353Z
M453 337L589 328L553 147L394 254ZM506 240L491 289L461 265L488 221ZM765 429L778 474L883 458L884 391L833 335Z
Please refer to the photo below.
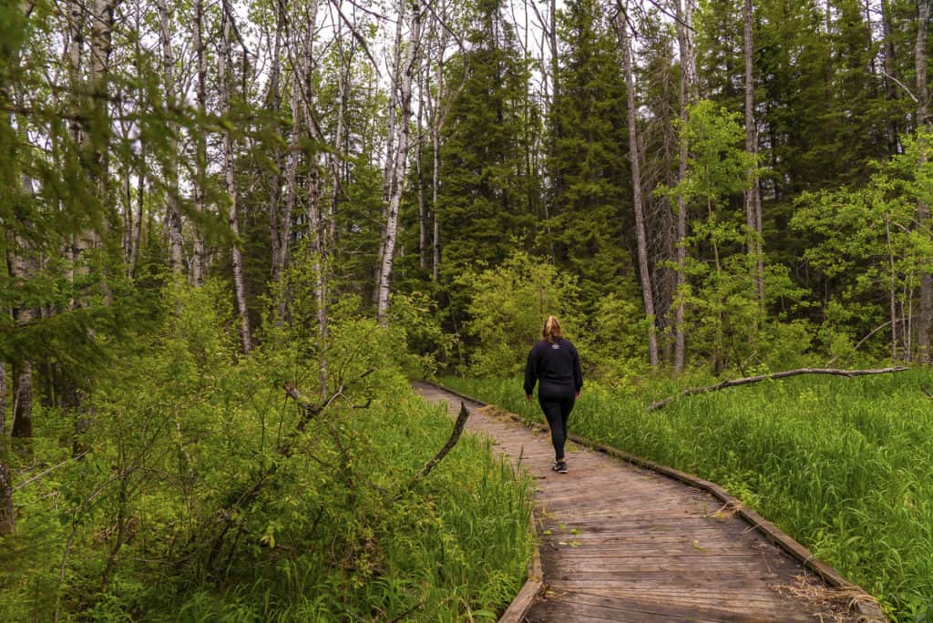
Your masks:
M681 2L684 8L681 9ZM675 0L677 46L680 51L680 123L681 128L687 127L689 121L689 105L692 103L693 80L693 7L691 0ZM678 150L677 175L678 181L687 179L687 140L681 132ZM685 305L683 301L684 289L687 285L687 201L681 193L677 197L677 270L675 278L675 298L677 304L674 313L674 369L677 373L684 371L686 362L686 337L684 327Z

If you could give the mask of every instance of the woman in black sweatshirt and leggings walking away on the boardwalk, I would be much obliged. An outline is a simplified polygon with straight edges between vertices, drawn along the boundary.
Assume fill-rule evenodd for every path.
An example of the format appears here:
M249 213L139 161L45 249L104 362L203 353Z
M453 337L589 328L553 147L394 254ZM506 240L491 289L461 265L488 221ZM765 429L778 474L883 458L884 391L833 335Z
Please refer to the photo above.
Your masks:
M528 353L525 366L525 400L531 400L537 387L537 401L550 426L550 440L554 444L553 470L567 473L564 461L564 443L567 440L567 418L574 401L583 388L583 373L577 349L564 339L561 323L548 316L541 330L541 340Z

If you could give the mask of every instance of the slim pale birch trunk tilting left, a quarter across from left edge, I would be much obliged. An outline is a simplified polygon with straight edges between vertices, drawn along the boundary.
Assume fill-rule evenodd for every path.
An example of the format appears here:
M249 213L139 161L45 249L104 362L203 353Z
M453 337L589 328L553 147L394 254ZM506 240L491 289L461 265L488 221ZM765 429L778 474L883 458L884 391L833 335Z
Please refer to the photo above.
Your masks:
M249 328L249 315L246 309L246 285L243 276L243 252L240 245L243 243L240 238L240 222L237 214L237 188L236 178L233 169L233 137L230 135L230 100L232 99L233 80L232 80L232 52L230 49L230 35L232 24L230 23L232 9L228 5L229 0L222 0L222 30L223 30L223 49L218 55L217 74L220 80L220 106L221 115L227 118L228 123L223 126L223 149L224 149L224 180L227 184L227 195L230 201L227 222L230 231L233 232L233 244L230 256L233 262L233 288L236 295L236 311L240 317L240 340L244 353L249 353L253 349L253 339Z

